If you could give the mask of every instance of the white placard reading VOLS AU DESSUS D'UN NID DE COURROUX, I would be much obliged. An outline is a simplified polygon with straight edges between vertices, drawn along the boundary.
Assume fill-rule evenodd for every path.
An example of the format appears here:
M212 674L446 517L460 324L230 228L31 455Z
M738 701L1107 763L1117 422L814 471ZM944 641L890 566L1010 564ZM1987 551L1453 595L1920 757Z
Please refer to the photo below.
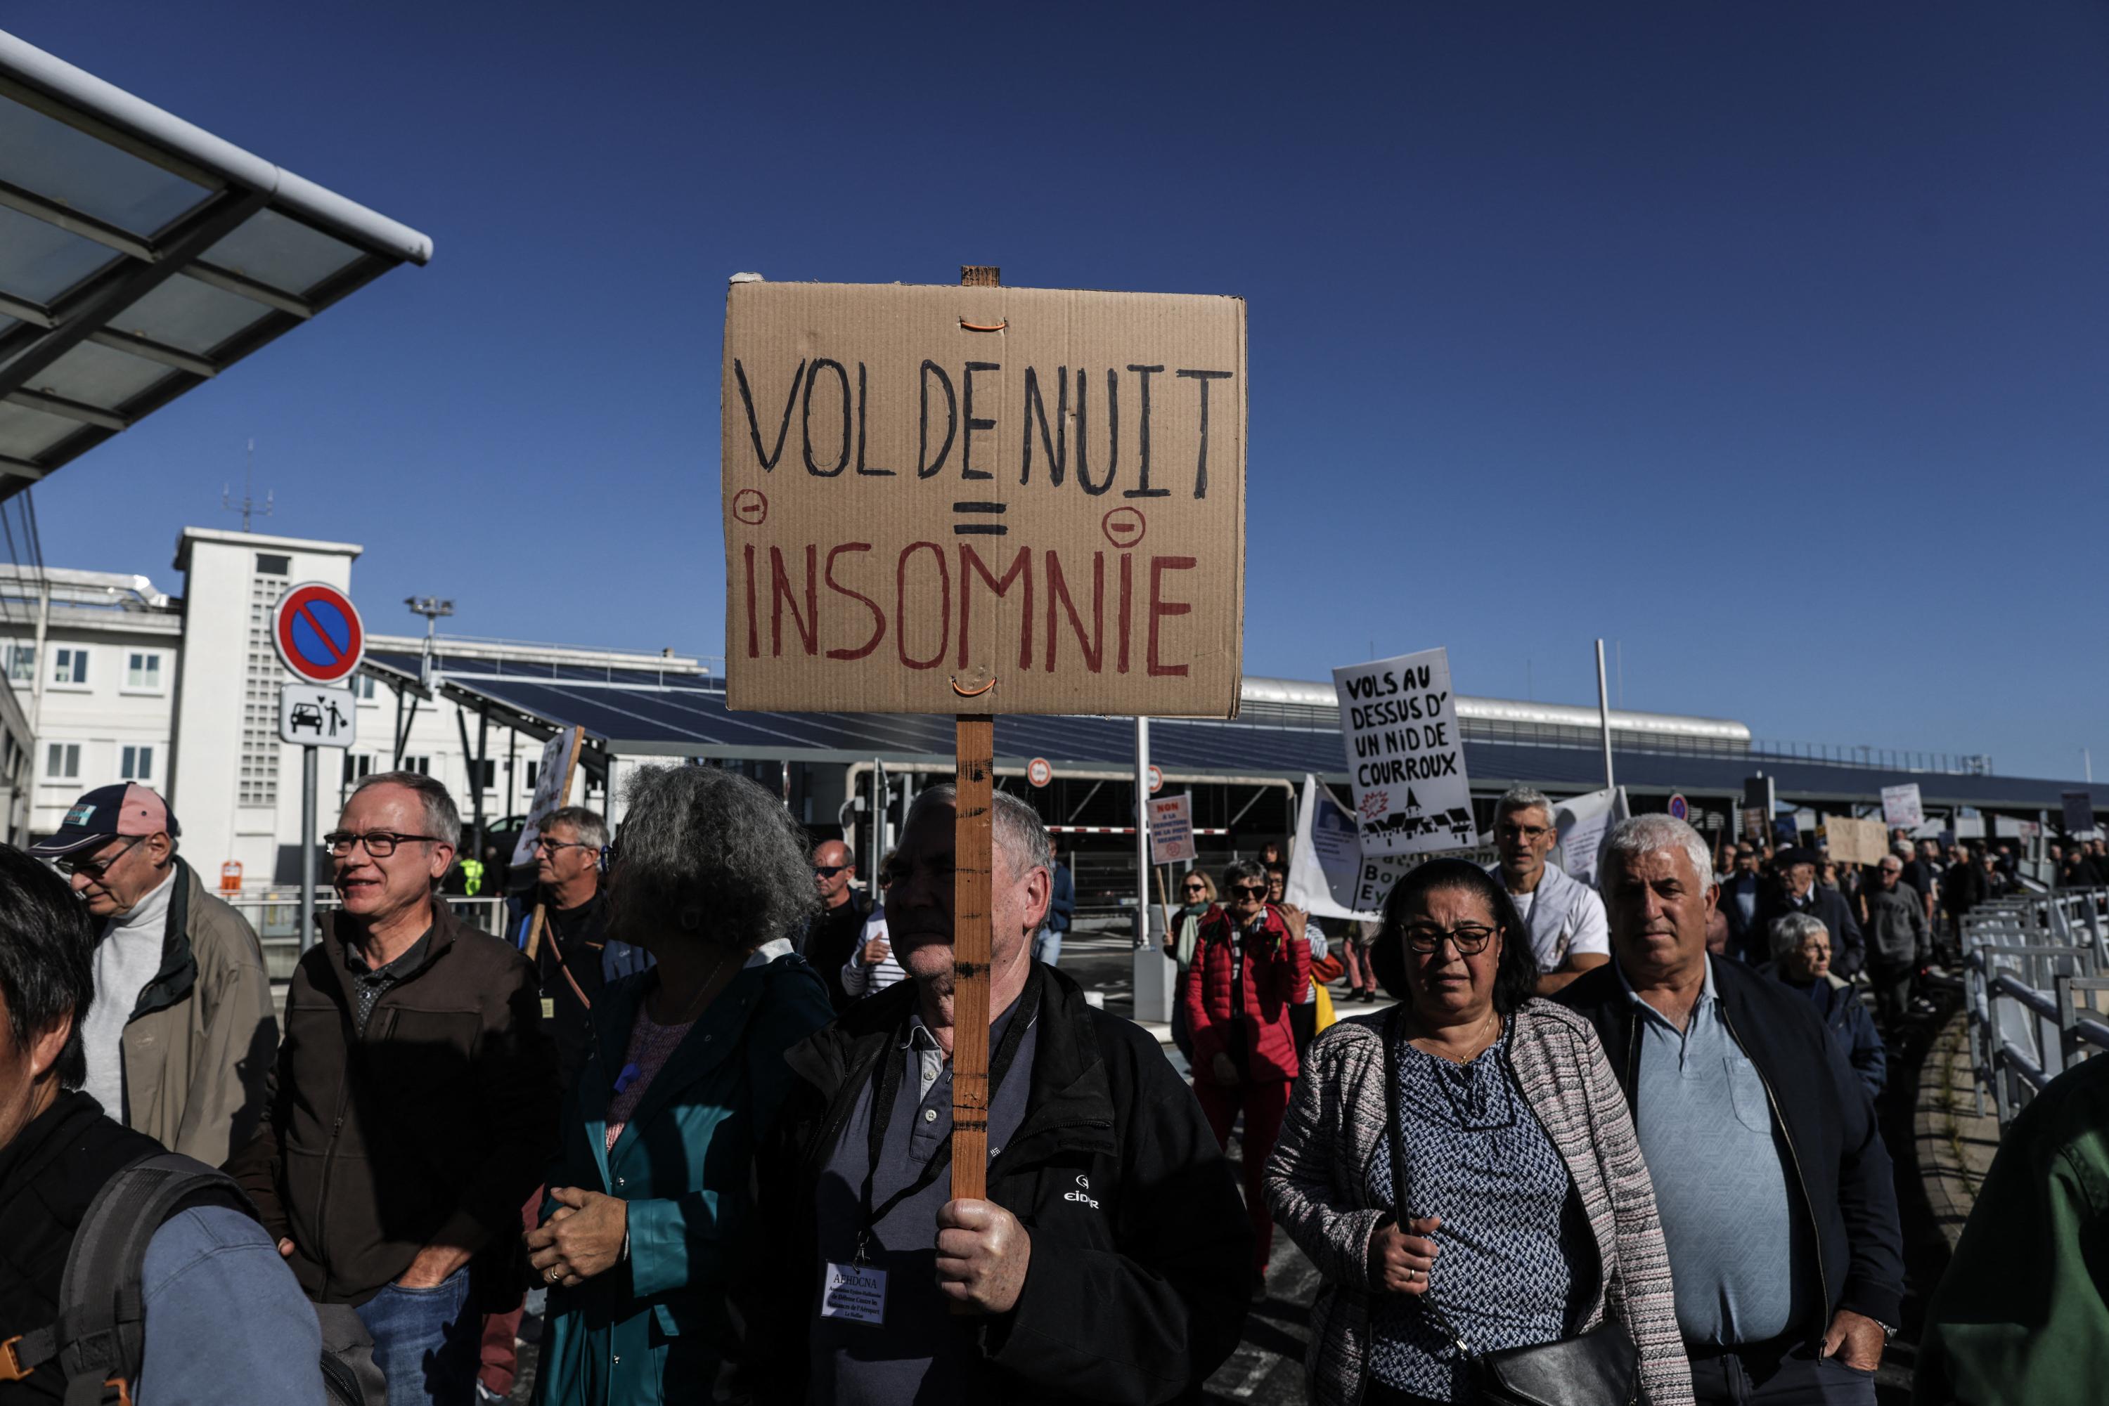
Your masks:
M1333 670L1365 856L1432 854L1478 839L1449 649Z

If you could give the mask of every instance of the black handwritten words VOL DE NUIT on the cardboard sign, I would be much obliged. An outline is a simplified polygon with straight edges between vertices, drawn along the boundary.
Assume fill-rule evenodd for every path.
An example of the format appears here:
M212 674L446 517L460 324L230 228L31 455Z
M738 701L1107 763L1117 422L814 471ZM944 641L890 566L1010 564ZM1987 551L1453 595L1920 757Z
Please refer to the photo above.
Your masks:
M882 377L894 394L884 390L877 398L894 403L903 390L905 369L882 369ZM1122 379L1128 379L1130 413L1137 417L1135 481L1122 487L1122 497L1170 497L1168 479L1179 474L1177 487L1192 487L1194 497L1208 495L1208 388L1230 379L1234 371L1206 371L1194 367L1170 367L1128 363L1105 367L1105 392L1097 390L1097 367L1054 367L1046 373L1040 367L1014 369L1014 386L1006 384L1006 371L995 360L968 360L955 369L924 360L913 373L915 386L915 464L913 468L886 468L871 460L869 445L875 434L871 411L873 373L865 363L841 363L831 356L812 356L782 373L766 375L761 367L749 371L744 360L734 356L732 377L738 386L740 409L747 415L747 432L755 447L755 460L763 472L774 474L793 445L791 424L797 422L797 453L808 474L816 479L837 479L854 472L867 479L894 479L913 472L915 479L934 479L945 472L957 453L957 474L966 481L995 479L991 472L993 441L1004 434L995 415L976 413L991 407L995 398L1008 398L1014 390L1019 405L1019 483L1033 479L1033 457L1038 451L1046 483L1063 487L1067 479L1086 495L1111 491L1120 476L1120 413ZM1175 394L1192 396L1198 424L1198 443L1192 457L1192 481L1183 476L1185 455L1179 464L1154 460L1152 451L1162 449L1154 441L1152 411L1166 394L1168 386L1156 377L1173 377ZM778 386L787 386L778 403ZM976 407L976 394L981 403ZM1236 422L1234 422L1236 424ZM1103 453L1101 447L1103 445ZM976 462L979 460L979 462ZM1152 479L1156 474L1156 479Z

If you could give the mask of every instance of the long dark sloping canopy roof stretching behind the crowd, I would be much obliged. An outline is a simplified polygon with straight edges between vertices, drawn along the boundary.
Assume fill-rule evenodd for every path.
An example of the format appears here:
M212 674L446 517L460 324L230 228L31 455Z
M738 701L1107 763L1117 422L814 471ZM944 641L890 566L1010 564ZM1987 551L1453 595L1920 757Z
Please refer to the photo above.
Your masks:
M367 653L367 664L394 681L413 681L420 658ZM953 755L951 719L939 715L732 712L721 679L685 672L447 656L437 660L437 668L441 687L468 706L487 702L494 717L525 721L542 734L576 723L614 755L818 763L879 757L888 765L939 767L949 767ZM1466 769L1481 788L1529 782L1569 793L1603 784L1603 753L1597 748L1468 740L1464 750ZM998 765L1021 767L1031 757L1046 757L1057 772L1071 774L1133 769L1135 725L1124 717L998 715ZM1152 719L1149 759L1175 776L1297 780L1314 772L1346 782L1339 731L1316 727ZM1744 778L1763 769L1780 799L1797 803L1871 805L1883 786L1919 782L1928 805L2056 812L2058 793L2077 788L2077 782L1843 767L1755 753L1706 757L1613 748L1613 763L1628 790L1683 790L1694 797L1740 797Z

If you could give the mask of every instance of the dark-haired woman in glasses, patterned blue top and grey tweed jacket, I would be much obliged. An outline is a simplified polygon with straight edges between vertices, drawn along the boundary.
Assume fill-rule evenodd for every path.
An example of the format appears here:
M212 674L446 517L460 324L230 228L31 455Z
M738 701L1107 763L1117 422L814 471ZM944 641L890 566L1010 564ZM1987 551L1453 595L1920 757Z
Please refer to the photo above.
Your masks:
M1582 1334L1611 1376L1637 1372L1641 1400L1691 1402L1624 1094L1590 1024L1533 997L1499 881L1462 860L1413 868L1371 963L1400 1003L1312 1043L1265 1172L1324 1280L1312 1402L1472 1402L1485 1366L1464 1345Z

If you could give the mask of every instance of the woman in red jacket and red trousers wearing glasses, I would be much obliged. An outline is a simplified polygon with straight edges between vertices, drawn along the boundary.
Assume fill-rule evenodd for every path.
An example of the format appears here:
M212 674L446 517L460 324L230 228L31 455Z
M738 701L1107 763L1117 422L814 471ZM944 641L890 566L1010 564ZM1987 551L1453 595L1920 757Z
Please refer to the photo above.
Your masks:
M1280 909L1268 906L1268 871L1232 860L1223 871L1225 906L1208 909L1194 938L1194 961L1179 984L1194 1067L1194 1096L1221 1147L1244 1113L1240 1157L1244 1210L1253 1221L1253 1303L1268 1296L1274 1221L1259 1174L1297 1077L1297 1039L1289 1010L1312 980L1312 953L1293 938Z

